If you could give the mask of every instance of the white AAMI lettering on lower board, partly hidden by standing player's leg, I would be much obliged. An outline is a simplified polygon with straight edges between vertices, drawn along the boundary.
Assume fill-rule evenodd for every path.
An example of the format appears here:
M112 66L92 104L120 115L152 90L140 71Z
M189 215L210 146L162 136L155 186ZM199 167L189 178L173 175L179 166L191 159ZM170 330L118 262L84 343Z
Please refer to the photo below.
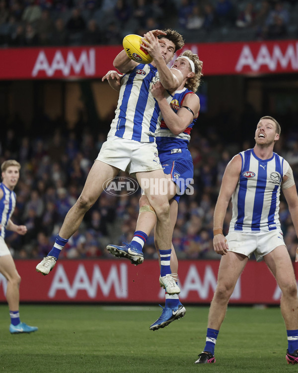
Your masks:
M185 281L182 284L179 282L181 292L179 297L181 299L186 298L190 291L196 291L199 295L198 301L200 299L207 299L209 295L213 296L213 293L217 285L217 273L214 273L210 266L206 266L204 280L202 281L198 273L196 266L191 265L189 267L188 273L186 275ZM209 292L212 291L212 294ZM159 292L159 298L164 298L164 290L161 289ZM241 298L241 278L238 279L234 291L231 295L231 299Z

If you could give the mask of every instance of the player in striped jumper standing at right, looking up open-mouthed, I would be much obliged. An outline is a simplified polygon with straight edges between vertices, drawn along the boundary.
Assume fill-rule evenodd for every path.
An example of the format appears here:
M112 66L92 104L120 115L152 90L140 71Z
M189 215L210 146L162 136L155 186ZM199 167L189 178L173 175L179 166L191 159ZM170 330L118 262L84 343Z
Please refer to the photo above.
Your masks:
M209 311L206 345L197 364L215 363L215 344L227 303L251 254L257 261L265 261L281 288L281 312L288 336L286 359L289 364L298 363L297 283L279 221L282 189L298 234L298 196L289 163L273 152L280 132L274 118L263 116L255 132L254 148L234 156L226 166L214 213L214 250L222 259ZM230 198L232 219L224 237L224 216Z

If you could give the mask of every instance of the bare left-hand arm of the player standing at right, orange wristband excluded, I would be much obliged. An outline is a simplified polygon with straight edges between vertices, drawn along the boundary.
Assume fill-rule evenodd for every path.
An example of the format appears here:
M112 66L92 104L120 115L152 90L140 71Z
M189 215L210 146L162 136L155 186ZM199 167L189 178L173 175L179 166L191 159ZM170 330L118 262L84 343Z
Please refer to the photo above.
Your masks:
M236 155L226 166L221 190L214 210L214 230L223 229L226 209L233 191L237 186L241 171L241 165L241 156ZM214 236L213 247L214 251L218 254L225 255L227 253L228 245L225 242L223 234L216 234Z

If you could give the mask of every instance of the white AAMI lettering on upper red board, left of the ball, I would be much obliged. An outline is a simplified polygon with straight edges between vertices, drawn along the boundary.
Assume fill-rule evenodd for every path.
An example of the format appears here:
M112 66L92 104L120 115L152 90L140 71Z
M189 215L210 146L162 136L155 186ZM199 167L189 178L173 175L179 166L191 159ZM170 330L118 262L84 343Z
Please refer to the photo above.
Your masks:
M39 72L44 71L48 77L52 77L57 71L61 71L67 77L70 75L72 68L75 74L84 71L86 76L93 76L95 74L94 48L90 48L88 51L82 50L78 60L75 59L72 50L67 52L66 60L62 52L57 50L51 64L47 59L46 53L40 51L32 70L32 76L36 77Z

